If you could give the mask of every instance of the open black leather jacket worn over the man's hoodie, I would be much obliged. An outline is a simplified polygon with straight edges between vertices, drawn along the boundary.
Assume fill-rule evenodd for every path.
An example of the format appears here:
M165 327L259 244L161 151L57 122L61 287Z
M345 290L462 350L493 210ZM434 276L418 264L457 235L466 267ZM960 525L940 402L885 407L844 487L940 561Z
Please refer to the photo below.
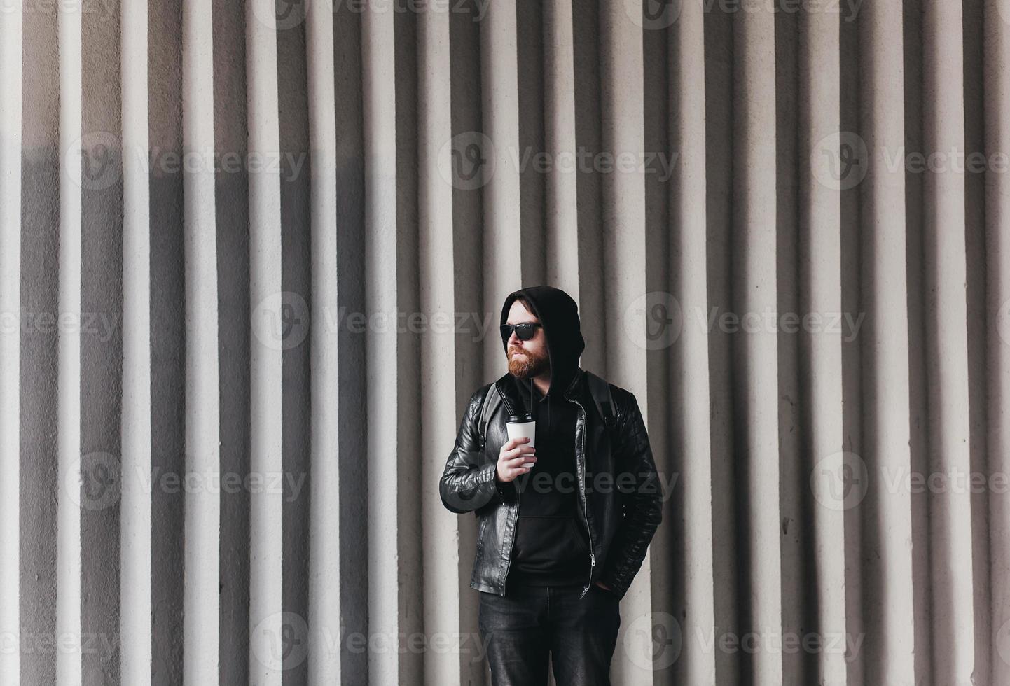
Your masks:
M602 581L621 598L663 520L663 492L638 403L631 392L613 384L610 388L614 428L609 432L596 410L583 369L572 378L565 397L580 406L575 431L576 471L582 486L579 510L591 541L582 594ZM496 389L502 394L502 404L488 421L485 445L479 426L481 407L485 395ZM499 452L508 440L505 419L518 414L515 409L521 407L509 374L475 392L438 484L446 508L458 513L472 511L478 519L470 587L498 595L505 594L519 514L517 496L521 493L512 482L499 482L495 474ZM609 482L604 473L612 475Z

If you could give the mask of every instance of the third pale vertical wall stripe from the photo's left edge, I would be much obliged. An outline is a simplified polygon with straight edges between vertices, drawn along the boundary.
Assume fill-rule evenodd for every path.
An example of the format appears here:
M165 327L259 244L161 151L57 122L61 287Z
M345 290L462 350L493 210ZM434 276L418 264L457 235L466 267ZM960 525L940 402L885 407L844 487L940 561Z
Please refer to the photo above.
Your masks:
M119 608L123 683L152 683L150 180L147 3L122 9L123 415Z

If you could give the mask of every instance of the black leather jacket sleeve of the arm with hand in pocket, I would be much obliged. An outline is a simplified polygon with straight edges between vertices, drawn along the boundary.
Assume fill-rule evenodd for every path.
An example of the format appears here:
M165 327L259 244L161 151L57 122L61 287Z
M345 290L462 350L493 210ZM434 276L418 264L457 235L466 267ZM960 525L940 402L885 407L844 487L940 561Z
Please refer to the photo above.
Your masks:
M630 402L614 453L615 487L620 488L622 520L610 545L601 580L623 597L641 568L648 544L663 521L663 493L638 402ZM631 479L624 474L634 476ZM624 479L627 482L623 481Z

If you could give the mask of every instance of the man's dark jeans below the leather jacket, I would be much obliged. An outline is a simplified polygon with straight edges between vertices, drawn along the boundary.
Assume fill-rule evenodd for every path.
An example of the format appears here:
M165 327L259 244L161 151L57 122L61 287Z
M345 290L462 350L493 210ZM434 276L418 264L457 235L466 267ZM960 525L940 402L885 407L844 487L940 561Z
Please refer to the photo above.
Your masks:
M480 591L478 625L492 686L545 686L549 653L558 686L609 686L620 600L593 585Z

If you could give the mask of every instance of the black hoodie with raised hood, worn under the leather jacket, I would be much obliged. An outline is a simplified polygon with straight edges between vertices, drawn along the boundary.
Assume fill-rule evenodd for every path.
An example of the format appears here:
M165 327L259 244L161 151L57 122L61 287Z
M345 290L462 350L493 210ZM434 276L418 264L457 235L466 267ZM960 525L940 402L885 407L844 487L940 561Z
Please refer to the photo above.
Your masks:
M516 291L505 299L501 323L516 297L522 296L543 326L550 360L546 395L532 379L513 377L519 396L536 420L533 468L515 479L519 521L508 582L528 585L584 584L589 577L589 537L579 507L575 463L575 425L579 408L565 398L585 349L578 306L548 285ZM508 341L503 342L508 353Z

